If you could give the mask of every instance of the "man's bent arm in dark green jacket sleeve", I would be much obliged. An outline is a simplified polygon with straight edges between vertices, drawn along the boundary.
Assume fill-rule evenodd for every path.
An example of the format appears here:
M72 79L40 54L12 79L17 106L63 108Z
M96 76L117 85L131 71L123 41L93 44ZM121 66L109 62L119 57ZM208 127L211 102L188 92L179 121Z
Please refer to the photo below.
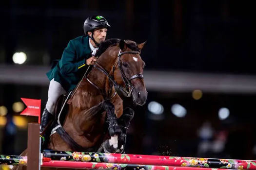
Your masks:
M75 46L72 41L69 41L60 60L60 72L62 74L77 72L80 68L84 68L84 66L86 66L86 59L76 61Z

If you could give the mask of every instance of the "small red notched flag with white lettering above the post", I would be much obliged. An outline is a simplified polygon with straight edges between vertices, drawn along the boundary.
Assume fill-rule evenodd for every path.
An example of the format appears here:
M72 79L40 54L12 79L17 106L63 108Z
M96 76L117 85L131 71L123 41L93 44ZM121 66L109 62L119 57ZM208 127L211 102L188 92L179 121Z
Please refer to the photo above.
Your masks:
M20 115L37 116L40 124L41 100L20 98L27 106Z

